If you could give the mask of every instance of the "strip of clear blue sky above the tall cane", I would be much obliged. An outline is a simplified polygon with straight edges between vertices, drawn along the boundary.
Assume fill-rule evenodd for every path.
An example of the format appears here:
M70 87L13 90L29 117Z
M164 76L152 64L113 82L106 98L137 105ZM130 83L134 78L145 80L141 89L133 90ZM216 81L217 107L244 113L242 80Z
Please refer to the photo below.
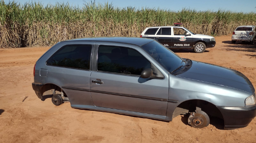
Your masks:
M11 1L11 0L10 0ZM57 2L69 3L73 6L83 6L85 2L90 3L88 0L14 0L20 4L26 2L41 2L44 5L55 5ZM5 1L9 2L9 1ZM182 8L195 9L197 11L218 11L230 10L232 12L255 12L256 13L256 0L95 0L96 3L104 4L105 2L112 3L114 7L125 8L128 6L139 8L160 8L171 11L179 11Z

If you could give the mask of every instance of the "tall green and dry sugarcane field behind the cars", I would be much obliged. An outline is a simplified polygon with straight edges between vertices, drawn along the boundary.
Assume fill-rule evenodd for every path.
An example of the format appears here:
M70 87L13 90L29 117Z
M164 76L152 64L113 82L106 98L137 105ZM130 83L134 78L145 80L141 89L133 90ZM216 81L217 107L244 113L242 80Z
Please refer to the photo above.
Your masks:
M230 34L241 25L255 25L256 13L219 10L174 12L161 9L115 8L112 4L85 3L43 6L0 2L0 47L53 45L61 40L93 36L139 37L146 27L173 26L175 22L194 33Z

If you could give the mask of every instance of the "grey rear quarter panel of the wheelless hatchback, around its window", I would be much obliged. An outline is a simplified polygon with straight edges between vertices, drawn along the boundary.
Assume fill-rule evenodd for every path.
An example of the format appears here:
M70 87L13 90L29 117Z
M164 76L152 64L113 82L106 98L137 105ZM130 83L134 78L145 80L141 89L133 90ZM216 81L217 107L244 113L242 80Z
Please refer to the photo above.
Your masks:
M35 67L34 81L42 84L54 84L60 87L68 96L69 101L74 105L93 105L90 92L72 90L62 87L73 87L79 89L90 89L90 70L66 68L47 65L46 61L58 50L66 44L94 44L95 42L83 41L64 41L52 47L37 62ZM39 74L41 68L47 69L47 77Z

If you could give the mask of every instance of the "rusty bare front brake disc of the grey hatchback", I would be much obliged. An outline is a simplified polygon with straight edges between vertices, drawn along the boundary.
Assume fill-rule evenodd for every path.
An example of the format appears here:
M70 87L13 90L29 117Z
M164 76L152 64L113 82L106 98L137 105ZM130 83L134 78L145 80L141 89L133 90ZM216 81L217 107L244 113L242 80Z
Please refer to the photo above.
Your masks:
M204 128L210 124L210 118L204 111L199 110L189 115L188 124L194 128Z

